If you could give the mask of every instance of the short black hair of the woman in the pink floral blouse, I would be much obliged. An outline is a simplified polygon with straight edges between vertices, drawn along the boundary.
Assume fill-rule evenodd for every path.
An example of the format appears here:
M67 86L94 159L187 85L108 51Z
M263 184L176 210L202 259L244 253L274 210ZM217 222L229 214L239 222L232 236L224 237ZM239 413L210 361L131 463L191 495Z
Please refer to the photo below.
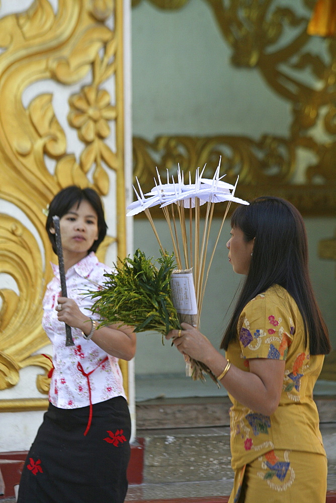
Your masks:
M50 229L53 228L54 224L52 221L52 217L57 215L59 218L62 218L63 215L69 211L72 206L75 204L80 205L81 201L88 201L91 204L98 217L98 239L94 241L91 248L88 250L88 254L90 251L97 251L98 246L103 241L106 236L107 224L104 217L104 209L103 203L99 196L99 194L94 189L80 189L76 185L70 185L65 189L62 189L54 199L51 201L49 205L49 214L47 217L47 221L45 224L45 228L48 232L48 236L50 242L52 244L52 249L56 253L56 240L55 234L50 232Z

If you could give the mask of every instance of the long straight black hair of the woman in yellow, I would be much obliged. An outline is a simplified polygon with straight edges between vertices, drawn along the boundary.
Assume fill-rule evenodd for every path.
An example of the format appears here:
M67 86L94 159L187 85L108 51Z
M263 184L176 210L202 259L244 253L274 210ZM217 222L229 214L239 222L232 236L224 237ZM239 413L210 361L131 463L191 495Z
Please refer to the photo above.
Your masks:
M259 197L248 206L238 206L232 214L231 227L241 229L244 239L255 239L255 243L249 271L221 348L226 350L236 338L239 315L247 302L272 285L280 285L299 308L310 354L330 353L328 330L309 278L307 235L299 211L284 199Z

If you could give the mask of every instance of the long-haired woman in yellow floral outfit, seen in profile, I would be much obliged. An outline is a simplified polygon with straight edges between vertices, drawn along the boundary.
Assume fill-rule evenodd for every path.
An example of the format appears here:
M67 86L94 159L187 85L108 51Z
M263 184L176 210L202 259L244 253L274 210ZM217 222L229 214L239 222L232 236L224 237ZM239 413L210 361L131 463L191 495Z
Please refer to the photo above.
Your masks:
M205 363L229 393L229 503L325 503L327 462L312 393L331 348L302 217L289 202L262 197L239 206L231 227L228 259L246 280L221 343L225 357L186 323L167 339Z

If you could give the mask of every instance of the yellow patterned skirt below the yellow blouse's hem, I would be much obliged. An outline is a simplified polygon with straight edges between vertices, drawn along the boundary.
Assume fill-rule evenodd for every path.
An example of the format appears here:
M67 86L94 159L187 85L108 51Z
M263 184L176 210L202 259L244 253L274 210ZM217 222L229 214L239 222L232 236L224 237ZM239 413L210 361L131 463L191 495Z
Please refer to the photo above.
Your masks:
M325 503L326 476L322 454L270 451L236 471L228 503Z

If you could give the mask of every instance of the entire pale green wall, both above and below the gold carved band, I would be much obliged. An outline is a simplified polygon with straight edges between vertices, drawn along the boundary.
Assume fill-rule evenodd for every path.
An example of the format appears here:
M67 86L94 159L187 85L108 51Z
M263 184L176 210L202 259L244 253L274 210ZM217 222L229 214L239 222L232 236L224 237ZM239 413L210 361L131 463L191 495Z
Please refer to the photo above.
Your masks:
M294 5L292 0L275 4ZM295 2L295 8L307 15L301 4ZM318 52L324 42L312 37L312 52ZM291 103L268 87L257 68L233 67L230 57L231 49L203 0L191 0L183 9L171 12L156 9L145 0L132 9L133 135L148 140L162 134L228 134L259 139L269 133L288 137ZM309 79L309 75L303 78ZM315 127L312 135L319 134ZM298 149L297 159L296 183L302 181L305 167L315 160L304 149ZM336 222L330 218L305 221L311 277L336 347L335 264L317 257L318 241L333 235ZM225 312L239 283L227 262L228 222L211 270L201 318L204 333L216 346L225 326ZM161 228L160 236L167 233L165 222L156 225ZM216 222L213 230L215 227ZM164 244L164 238L162 241ZM166 242L171 249L170 241ZM137 247L149 256L159 255L146 220L134 222L134 249ZM174 350L169 344L162 348L157 334L139 334L136 373L183 372L183 359Z

